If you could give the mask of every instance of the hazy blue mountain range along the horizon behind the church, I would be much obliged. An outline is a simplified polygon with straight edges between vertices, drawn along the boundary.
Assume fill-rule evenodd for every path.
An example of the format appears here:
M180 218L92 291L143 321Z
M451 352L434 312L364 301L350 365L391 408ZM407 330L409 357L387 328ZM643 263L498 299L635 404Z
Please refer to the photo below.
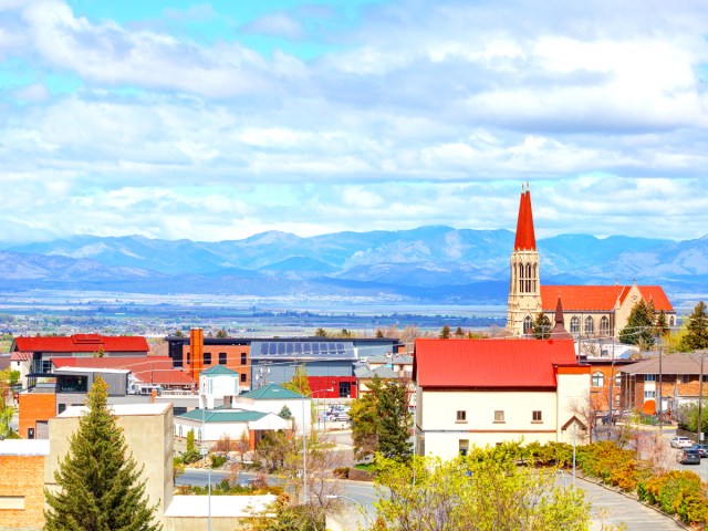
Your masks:
M310 238L270 231L218 242L77 236L6 247L0 289L506 303L513 238L439 226ZM636 279L669 295L706 291L708 236L562 235L538 248L544 284Z

